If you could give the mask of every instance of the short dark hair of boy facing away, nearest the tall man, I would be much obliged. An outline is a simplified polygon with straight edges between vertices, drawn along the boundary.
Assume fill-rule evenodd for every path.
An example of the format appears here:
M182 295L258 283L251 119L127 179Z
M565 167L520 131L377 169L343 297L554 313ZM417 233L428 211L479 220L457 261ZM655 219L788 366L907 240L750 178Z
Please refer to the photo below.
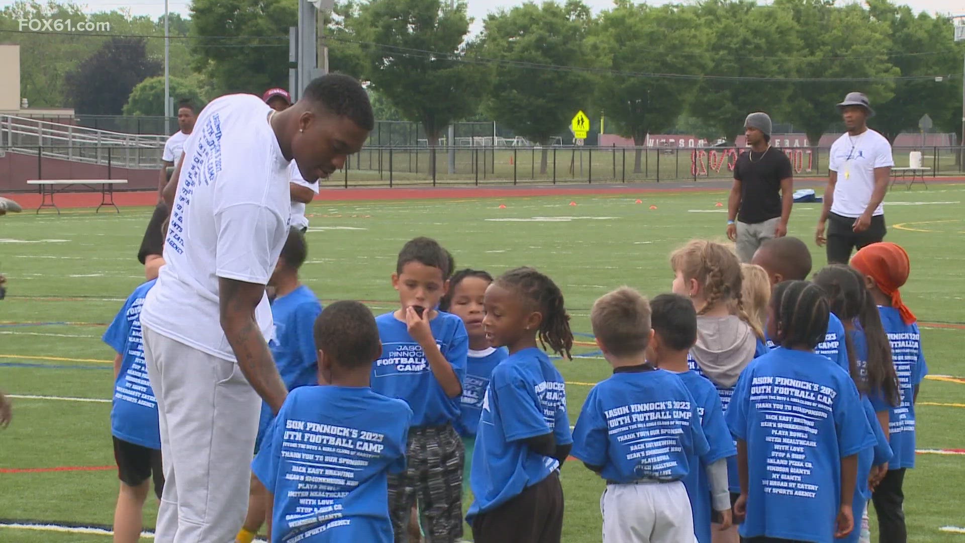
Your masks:
M382 356L375 317L354 300L335 301L321 311L315 320L315 346L344 367L371 366Z

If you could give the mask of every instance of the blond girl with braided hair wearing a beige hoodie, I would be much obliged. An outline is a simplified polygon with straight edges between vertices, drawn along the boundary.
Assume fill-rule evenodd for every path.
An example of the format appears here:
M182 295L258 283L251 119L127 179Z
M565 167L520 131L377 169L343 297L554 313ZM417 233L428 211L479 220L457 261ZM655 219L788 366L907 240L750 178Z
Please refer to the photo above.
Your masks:
M764 333L744 309L740 261L728 246L706 240L686 243L670 257L675 272L673 290L687 297L697 309L697 343L688 364L717 388L721 408L727 412L733 387L755 357L767 353ZM737 499L736 457L728 459L731 502ZM735 524L740 518L732 515ZM736 543L737 530L712 530L715 543Z

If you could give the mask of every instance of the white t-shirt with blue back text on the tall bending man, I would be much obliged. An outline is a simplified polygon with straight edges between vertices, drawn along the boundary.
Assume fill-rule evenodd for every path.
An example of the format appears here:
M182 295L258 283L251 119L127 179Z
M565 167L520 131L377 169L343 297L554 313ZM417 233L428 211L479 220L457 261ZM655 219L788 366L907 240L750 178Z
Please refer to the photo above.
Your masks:
M219 278L267 284L289 236L289 163L253 95L212 100L184 143L184 163L145 327L234 361L221 329ZM255 309L271 339L267 296Z

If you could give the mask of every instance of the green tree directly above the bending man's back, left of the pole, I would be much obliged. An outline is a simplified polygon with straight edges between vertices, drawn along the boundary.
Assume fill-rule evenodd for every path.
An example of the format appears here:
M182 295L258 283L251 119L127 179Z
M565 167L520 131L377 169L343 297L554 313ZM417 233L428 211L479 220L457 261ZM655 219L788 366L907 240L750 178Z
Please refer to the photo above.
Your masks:
M206 73L219 94L287 87L289 27L297 22L297 3L290 0L194 0L192 67Z

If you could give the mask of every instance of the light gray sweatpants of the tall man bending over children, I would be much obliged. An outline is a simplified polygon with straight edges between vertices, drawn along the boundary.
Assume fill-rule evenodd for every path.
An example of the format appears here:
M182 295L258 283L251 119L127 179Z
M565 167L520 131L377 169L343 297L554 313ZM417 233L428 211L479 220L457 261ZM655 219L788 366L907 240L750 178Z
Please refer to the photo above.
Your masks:
M158 543L229 543L248 510L262 402L238 365L143 328L160 419Z

